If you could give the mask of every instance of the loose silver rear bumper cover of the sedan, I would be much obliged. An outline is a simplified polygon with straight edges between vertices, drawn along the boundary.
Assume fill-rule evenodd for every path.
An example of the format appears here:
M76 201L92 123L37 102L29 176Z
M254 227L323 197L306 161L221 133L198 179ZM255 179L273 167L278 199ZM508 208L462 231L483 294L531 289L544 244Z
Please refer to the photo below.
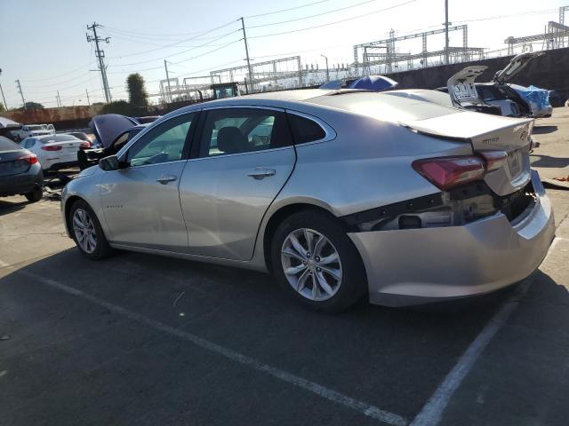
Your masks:
M551 204L534 170L532 180L536 201L517 223L498 213L463 226L349 233L364 260L370 302L427 304L525 279L555 234Z

